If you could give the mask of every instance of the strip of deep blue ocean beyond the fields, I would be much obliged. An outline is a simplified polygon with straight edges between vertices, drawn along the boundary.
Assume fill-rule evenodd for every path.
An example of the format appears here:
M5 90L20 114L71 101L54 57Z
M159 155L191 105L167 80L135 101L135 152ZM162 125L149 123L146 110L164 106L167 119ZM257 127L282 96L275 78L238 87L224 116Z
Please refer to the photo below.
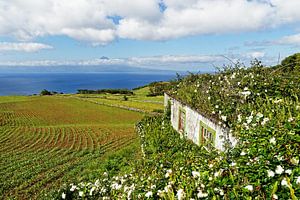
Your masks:
M132 89L175 77L175 73L1 73L0 96L39 94L43 89L59 93L76 93L78 89Z

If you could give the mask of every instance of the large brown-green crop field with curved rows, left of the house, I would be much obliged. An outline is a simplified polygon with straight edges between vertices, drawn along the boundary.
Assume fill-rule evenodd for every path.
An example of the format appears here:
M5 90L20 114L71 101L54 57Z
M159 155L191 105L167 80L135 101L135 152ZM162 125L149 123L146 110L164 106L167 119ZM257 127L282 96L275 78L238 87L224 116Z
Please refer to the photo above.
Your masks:
M0 197L41 198L64 183L99 176L107 156L135 148L141 118L59 96L0 97Z

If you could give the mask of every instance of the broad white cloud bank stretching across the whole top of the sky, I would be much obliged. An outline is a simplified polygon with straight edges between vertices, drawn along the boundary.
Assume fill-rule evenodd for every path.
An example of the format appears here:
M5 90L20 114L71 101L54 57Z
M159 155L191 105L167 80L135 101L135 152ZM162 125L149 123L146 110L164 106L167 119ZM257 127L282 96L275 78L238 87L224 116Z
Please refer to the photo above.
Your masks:
M168 40L299 23L299 8L299 0L0 0L0 35L66 35L94 45Z

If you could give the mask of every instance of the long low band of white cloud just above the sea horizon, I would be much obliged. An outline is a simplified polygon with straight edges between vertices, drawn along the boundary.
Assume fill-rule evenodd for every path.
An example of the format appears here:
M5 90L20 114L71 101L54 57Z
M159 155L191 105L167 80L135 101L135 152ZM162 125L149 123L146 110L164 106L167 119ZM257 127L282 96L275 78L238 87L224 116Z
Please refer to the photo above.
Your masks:
M79 61L36 60L20 62L2 62L0 66L133 66L167 70L199 70L224 64L226 59L219 55L168 55L153 57L131 57L111 59L91 59Z

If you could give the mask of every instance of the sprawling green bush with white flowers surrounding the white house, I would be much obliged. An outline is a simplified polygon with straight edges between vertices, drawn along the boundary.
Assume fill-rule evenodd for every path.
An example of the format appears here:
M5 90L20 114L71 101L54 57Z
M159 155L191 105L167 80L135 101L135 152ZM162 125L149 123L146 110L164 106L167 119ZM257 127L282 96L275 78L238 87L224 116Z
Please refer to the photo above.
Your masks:
M170 91L238 138L225 152L181 139L167 116L137 124L143 159L128 174L62 188L56 198L297 199L300 79L295 72L235 67L193 75Z

